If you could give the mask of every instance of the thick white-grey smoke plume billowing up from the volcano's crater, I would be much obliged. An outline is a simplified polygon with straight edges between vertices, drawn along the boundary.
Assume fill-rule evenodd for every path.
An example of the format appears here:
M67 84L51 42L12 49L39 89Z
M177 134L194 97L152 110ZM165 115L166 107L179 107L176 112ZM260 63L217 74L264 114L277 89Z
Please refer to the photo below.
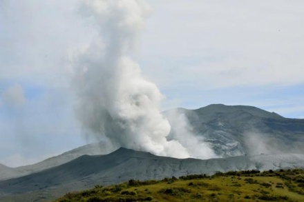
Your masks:
M146 1L90 0L81 11L99 29L97 39L73 59L75 109L84 130L115 148L193 156L193 145L167 140L171 125L160 112L164 97L131 58L151 12Z

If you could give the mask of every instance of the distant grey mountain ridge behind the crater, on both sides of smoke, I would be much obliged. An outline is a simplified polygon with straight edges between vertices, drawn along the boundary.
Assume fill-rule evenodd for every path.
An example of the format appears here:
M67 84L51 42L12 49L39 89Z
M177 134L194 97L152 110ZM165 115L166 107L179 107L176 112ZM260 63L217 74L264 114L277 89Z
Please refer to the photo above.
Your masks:
M163 112L172 128L178 126L167 116L172 111L183 114L189 121L191 133L207 143L218 156L304 153L304 119L284 118L274 112L247 105L211 104L196 110L177 108ZM169 134L169 139L171 137L173 135ZM113 150L115 148L102 142L84 145L33 165L0 167L0 180L52 168L83 154L108 154Z

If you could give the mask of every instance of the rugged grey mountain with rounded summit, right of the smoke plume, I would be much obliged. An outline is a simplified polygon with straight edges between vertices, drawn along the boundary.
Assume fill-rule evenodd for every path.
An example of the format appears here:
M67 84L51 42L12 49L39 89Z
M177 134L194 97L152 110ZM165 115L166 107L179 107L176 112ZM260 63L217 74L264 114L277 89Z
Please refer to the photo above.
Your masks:
M304 119L287 119L252 106L213 104L164 112L172 128L174 111L187 117L191 132L218 156L304 153Z

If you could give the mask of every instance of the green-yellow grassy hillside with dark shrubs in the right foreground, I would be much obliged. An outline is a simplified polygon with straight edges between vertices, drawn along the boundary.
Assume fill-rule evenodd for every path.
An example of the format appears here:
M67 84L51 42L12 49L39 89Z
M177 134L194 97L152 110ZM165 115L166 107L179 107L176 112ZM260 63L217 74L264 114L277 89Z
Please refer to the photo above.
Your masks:
M68 201L304 201L304 170L241 171L136 181L68 193Z

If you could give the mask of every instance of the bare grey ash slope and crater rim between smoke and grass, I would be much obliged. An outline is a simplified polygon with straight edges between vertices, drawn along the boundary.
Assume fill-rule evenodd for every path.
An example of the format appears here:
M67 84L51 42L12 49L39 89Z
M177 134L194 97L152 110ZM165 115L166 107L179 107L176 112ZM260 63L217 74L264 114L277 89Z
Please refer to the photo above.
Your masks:
M129 179L163 179L229 170L304 168L303 154L234 156L222 159L173 159L120 148L111 154L81 156L73 161L17 179L0 181L0 201L30 193L51 199L73 190L109 185ZM19 195L20 196L20 195ZM31 198L30 200L32 200Z

